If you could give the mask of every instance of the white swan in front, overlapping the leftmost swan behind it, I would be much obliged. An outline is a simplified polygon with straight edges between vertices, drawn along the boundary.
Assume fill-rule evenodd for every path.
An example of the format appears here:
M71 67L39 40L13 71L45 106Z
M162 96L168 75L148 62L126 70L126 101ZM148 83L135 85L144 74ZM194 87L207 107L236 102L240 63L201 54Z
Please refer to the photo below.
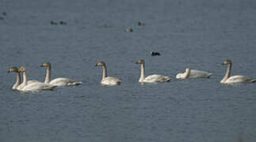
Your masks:
M52 90L53 88L56 87L55 85L44 84L42 82L32 82L31 84L28 84L28 77L27 77L25 67L21 66L21 68L18 69L18 72L23 73L23 82L21 85L24 86L23 88L17 88L17 90L19 91L34 92L34 91L42 91L42 90Z

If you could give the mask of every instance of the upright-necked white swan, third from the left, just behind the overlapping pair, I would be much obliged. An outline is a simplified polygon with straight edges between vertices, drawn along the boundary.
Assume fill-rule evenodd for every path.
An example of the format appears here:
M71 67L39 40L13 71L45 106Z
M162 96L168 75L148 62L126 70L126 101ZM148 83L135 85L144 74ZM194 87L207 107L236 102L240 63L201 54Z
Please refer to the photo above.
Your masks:
M50 62L46 62L41 67L47 67L46 70L46 77L44 80L44 84L52 84L55 86L71 86L71 85L79 85L82 84L82 82L75 82L74 80L71 80L69 78L59 77L55 78L54 80L51 80L51 64Z

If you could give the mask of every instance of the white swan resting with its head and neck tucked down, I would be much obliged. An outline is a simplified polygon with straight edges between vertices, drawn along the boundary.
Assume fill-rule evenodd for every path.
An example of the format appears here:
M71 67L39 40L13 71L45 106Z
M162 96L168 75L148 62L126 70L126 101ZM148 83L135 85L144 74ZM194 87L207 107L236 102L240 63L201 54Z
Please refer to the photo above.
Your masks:
M204 72L197 69L185 69L185 73L178 73L177 79L188 79L188 78L209 78L212 76L212 73Z

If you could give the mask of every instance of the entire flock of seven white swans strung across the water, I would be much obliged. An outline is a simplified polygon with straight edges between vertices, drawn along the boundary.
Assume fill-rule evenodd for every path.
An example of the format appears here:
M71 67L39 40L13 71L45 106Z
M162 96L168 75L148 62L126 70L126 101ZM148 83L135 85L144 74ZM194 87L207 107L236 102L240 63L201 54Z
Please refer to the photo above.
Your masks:
M136 62L136 64L140 64L140 77L139 83L163 83L169 82L171 80L170 77L162 76L159 74L153 74L150 76L145 76L145 62L140 59ZM227 71L222 80L220 80L221 84L243 84L243 83L253 83L256 82L256 79L251 79L250 77L236 75L231 76L231 60L225 60L223 65L227 65ZM64 86L77 86L82 84L82 82L71 80L66 77L59 77L51 80L51 69L52 65L50 62L45 62L40 65L41 67L46 68L46 75L44 82L40 82L39 80L29 80L28 73L24 66L21 66L20 69L13 66L11 67L7 73L16 73L16 82L13 84L13 89L23 92L33 92L33 91L44 91L44 90L53 90L56 87L64 87ZM121 81L117 77L108 77L107 76L107 67L105 62L98 62L96 66L101 66L102 68L102 85L120 85ZM21 73L23 75L23 82L21 83ZM196 78L209 78L212 76L212 73L208 73L205 71L197 70L197 69L185 69L185 73L178 73L176 75L177 79L185 80L185 79L196 79Z

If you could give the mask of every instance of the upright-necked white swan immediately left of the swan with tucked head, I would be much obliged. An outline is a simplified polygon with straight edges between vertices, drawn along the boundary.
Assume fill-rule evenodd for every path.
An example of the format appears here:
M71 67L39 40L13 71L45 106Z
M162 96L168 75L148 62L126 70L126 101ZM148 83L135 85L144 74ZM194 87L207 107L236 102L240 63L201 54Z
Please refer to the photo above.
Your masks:
M151 75L151 76L148 76L145 78L145 62L144 62L144 60L138 60L136 63L141 64L140 65L141 72L140 72L140 78L139 78L140 83L160 83L160 82L168 82L171 80L170 77L165 77L165 76L158 75L158 74L154 74L154 75Z

